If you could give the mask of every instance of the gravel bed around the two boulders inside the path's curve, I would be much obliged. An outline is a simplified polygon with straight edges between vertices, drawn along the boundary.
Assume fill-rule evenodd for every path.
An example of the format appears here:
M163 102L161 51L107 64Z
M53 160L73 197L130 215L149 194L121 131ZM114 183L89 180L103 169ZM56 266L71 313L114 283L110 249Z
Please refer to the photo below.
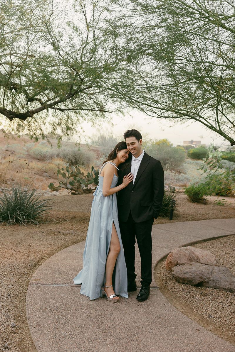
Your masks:
M235 275L235 235L195 244L215 254L220 266ZM165 269L165 260L155 268L160 290L182 313L235 344L235 293L181 284Z

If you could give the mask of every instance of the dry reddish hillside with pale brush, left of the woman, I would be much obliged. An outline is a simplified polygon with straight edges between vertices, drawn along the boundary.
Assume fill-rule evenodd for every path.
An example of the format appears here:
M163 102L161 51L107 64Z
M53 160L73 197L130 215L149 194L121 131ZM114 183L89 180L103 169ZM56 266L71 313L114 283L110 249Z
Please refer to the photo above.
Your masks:
M34 142L26 135L18 137L0 130L0 187L10 189L12 183L30 184L33 189L51 193L48 184L57 183L57 168L70 158L78 161L84 172L90 171L92 165L99 166L98 146L62 142L62 148L58 149L56 139L50 138L50 143L52 147L42 139ZM67 193L60 191L53 195Z

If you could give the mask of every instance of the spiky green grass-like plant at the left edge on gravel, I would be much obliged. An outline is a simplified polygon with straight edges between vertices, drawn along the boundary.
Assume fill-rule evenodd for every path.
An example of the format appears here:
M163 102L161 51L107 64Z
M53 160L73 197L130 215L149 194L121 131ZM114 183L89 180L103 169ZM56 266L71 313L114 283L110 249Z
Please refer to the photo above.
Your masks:
M12 185L12 192L9 194L2 189L4 196L0 197L0 223L7 225L38 225L43 212L50 207L49 200L40 199L35 189L20 185Z

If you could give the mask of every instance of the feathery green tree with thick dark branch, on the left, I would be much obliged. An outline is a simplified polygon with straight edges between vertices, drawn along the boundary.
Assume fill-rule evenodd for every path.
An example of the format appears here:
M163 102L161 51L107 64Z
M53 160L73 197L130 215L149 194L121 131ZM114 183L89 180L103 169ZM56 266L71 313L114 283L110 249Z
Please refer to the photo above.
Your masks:
M106 1L0 0L0 114L33 137L69 134L110 112L117 70Z

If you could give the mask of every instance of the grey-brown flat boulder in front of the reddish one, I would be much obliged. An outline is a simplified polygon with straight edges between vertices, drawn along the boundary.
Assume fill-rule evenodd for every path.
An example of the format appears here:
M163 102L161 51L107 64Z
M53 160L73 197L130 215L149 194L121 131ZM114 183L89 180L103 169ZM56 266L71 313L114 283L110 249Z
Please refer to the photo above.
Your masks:
M190 263L177 265L172 276L178 282L235 292L235 276L224 266Z

